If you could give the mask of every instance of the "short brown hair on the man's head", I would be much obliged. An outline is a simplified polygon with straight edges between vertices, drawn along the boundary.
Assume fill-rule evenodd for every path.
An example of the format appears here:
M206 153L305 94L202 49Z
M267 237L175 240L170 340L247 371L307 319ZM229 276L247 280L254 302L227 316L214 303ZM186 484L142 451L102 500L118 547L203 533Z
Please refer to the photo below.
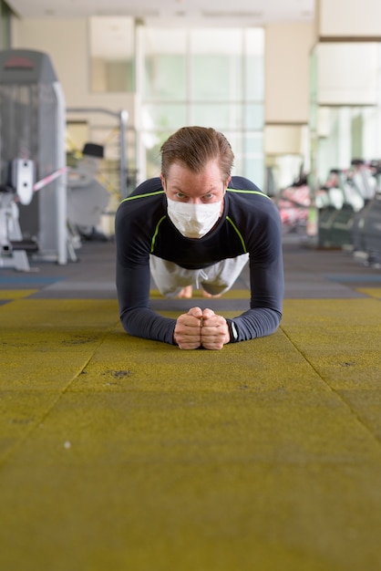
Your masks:
M161 146L161 173L168 176L176 162L193 172L201 172L209 161L218 160L226 181L232 171L234 154L230 142L217 130L207 127L181 127Z

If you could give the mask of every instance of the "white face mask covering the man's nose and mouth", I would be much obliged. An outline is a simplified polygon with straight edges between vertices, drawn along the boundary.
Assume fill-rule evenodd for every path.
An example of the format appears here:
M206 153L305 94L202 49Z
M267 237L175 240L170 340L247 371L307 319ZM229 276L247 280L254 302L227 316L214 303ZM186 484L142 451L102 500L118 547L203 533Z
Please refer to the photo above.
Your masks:
M187 238L202 238L220 218L221 203L192 204L167 197L168 215L179 232Z

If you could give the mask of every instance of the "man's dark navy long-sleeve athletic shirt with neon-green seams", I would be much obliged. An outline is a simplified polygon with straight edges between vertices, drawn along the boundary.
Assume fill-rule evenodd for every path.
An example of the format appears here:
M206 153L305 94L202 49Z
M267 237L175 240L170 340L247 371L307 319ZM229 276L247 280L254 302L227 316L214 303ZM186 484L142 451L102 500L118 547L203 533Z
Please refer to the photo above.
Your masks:
M282 224L278 209L251 181L233 176L223 214L202 238L186 238L167 213L160 178L141 183L116 215L117 291L120 319L129 335L174 344L176 319L149 307L149 255L199 269L249 254L250 308L233 321L238 341L272 334L283 306Z

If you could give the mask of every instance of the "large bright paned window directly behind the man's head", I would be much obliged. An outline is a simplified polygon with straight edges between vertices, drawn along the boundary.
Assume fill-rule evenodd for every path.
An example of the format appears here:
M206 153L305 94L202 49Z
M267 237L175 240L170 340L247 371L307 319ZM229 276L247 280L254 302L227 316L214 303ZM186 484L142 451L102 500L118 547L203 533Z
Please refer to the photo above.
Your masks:
M142 179L160 172L160 146L184 125L223 132L234 173L263 185L263 52L260 28L139 33L143 66Z

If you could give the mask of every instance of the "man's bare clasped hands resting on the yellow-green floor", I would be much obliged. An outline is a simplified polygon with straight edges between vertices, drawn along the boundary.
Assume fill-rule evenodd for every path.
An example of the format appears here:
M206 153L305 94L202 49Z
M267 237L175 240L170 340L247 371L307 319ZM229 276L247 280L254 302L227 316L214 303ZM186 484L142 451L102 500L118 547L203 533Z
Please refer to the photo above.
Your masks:
M180 349L221 349L229 343L230 334L225 317L211 309L192 307L178 317L173 338Z

